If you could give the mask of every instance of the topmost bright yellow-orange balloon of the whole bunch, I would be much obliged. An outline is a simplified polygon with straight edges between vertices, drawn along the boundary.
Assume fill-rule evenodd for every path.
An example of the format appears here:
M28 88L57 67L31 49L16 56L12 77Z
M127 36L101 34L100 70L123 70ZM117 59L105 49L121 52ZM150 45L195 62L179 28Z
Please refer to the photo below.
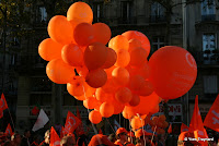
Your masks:
M67 19L68 21L91 24L93 22L93 11L85 2L74 2L68 9Z

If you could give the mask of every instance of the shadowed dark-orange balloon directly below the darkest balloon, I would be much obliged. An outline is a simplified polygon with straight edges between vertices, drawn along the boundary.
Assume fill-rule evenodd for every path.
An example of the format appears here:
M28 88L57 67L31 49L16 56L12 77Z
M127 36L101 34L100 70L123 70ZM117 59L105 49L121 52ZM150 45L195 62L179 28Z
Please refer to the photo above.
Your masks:
M106 83L107 75L103 69L92 70L85 76L85 81L89 84L89 86L93 88L99 88Z

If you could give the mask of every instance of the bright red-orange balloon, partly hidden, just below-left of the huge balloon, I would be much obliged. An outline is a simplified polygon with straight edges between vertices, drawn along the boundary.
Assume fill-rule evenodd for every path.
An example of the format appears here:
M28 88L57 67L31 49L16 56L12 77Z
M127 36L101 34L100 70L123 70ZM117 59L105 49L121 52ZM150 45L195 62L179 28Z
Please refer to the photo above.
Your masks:
M140 104L136 107L126 106L125 109L130 114L148 114L158 105L159 96L153 93L150 96L140 97ZM147 106L146 106L147 105Z

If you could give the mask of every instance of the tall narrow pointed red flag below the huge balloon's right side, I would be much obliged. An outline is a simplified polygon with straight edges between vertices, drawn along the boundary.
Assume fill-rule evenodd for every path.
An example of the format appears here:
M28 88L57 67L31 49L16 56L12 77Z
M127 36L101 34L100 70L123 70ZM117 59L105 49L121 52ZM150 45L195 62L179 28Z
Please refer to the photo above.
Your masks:
M193 111L193 118L191 120L188 132L194 133L195 138L201 146L208 146L207 141L204 142L200 138L208 138L207 132L204 127L203 120L200 117L200 111L198 108L198 96L195 98L195 107Z

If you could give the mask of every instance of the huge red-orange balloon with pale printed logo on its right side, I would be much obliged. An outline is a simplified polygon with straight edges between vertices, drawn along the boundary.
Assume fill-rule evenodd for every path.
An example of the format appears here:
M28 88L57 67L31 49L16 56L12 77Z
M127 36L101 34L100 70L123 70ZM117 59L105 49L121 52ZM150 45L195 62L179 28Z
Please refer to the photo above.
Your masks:
M149 80L163 99L175 99L186 94L197 76L195 59L181 47L160 48L151 56L149 66Z

